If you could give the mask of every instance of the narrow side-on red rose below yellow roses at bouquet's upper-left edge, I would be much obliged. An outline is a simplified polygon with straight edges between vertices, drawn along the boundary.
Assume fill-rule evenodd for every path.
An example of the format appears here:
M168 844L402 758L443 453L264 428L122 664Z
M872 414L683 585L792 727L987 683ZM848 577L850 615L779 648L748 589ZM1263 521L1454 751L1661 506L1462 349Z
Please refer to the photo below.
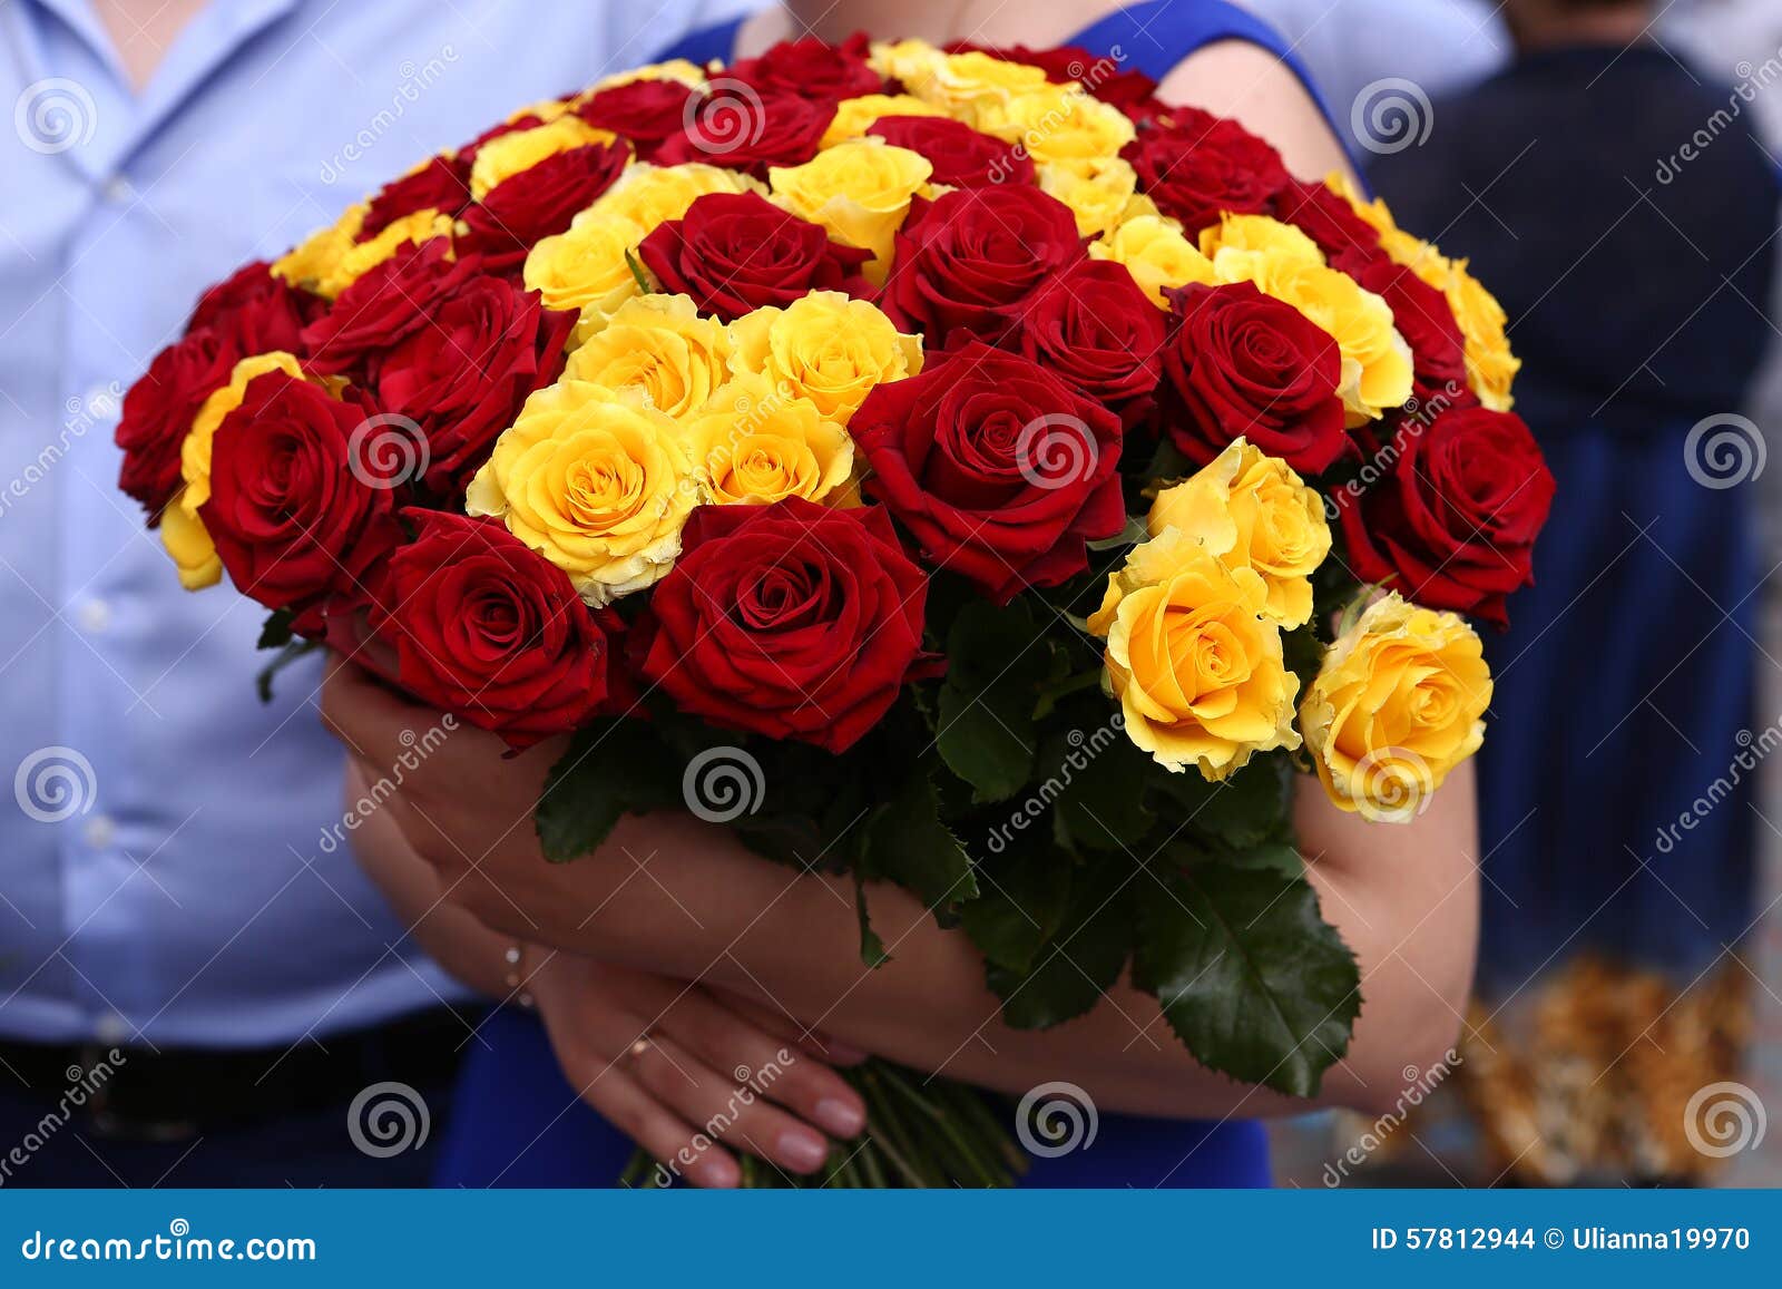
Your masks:
M303 328L308 365L333 376L347 373L378 349L388 349L474 278L476 259L451 259L451 239L431 237L401 246L342 291L319 319Z

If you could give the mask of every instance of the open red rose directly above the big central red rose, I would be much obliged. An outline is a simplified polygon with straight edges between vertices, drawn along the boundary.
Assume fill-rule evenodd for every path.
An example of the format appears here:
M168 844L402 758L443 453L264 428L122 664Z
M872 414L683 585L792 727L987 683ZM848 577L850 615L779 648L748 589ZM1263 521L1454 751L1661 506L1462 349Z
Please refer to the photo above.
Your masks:
M994 342L1026 296L1083 259L1076 216L1037 187L918 198L896 235L880 305L900 332L921 332L928 349L971 335Z

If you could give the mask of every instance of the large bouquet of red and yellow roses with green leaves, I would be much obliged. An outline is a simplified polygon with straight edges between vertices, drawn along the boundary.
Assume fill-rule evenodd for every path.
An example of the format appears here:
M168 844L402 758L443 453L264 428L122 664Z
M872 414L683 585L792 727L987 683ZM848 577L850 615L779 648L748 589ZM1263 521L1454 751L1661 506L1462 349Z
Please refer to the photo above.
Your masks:
M123 489L187 587L522 749L544 852L691 809L914 891L1016 1027L1123 973L1306 1096L1361 1007L1294 847L1483 738L1554 485L1492 296L1082 50L800 39L535 103L203 296ZM877 1064L825 1180L1010 1178Z

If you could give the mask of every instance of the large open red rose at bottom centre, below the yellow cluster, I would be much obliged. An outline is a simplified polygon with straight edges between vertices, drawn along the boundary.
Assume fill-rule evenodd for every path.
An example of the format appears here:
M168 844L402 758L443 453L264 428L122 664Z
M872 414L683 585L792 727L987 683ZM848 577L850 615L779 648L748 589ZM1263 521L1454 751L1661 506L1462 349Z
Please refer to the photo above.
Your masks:
M700 506L631 647L688 715L845 752L920 667L927 594L877 506Z

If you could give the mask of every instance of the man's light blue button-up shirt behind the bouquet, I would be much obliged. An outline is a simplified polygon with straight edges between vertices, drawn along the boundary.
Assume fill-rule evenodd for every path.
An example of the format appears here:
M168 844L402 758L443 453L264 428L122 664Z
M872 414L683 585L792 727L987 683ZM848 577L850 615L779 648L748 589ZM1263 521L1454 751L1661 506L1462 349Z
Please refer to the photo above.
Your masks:
M180 590L118 401L198 292L736 0L216 0L134 94L86 0L0 0L0 1038L266 1045L456 998L339 836L319 667ZM12 793L7 795L7 788Z

